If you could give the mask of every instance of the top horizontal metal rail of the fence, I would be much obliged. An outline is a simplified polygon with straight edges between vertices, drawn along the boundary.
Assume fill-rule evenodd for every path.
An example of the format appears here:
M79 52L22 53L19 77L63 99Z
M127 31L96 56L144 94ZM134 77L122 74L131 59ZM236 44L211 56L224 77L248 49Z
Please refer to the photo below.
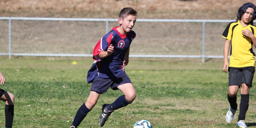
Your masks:
M0 20L45 20L45 21L118 21L107 18L32 18L32 17L0 17ZM233 22L235 20L200 20L200 19L137 19L139 22ZM256 20L254 21L256 22Z

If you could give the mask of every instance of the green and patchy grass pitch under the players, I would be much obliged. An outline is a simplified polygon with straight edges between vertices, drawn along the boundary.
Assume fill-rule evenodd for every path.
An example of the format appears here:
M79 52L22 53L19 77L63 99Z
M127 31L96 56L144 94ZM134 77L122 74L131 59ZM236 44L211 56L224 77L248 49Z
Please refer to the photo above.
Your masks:
M73 61L78 64L72 65ZM92 63L91 58L0 57L0 71L7 82L0 88L15 95L14 128L69 127L90 92L86 75ZM141 119L148 120L154 128L237 127L239 109L235 121L231 124L225 121L229 107L228 74L222 71L220 60L188 63L130 58L126 73L137 97L132 104L116 110L106 128L132 128ZM256 126L255 90L254 84L246 114L246 124L250 127ZM121 91L111 89L102 94L80 127L99 127L101 105L121 95ZM1 102L0 127L3 126L4 102Z

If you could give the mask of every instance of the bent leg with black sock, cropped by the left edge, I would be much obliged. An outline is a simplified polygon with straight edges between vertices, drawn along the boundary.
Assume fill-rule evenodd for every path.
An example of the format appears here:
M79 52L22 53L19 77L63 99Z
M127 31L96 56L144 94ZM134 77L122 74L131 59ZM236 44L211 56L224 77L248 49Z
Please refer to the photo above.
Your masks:
M5 127L11 128L13 126L15 97L12 93L4 91L4 95L0 97L0 100L5 102Z

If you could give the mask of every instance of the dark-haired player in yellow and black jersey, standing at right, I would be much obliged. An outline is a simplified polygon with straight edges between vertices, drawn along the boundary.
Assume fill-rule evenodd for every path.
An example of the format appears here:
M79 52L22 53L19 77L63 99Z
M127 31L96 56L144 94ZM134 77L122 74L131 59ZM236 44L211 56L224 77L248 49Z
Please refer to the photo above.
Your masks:
M255 53L252 51L252 45L256 47L256 26L253 25L255 18L255 5L252 3L243 4L238 10L236 22L228 24L222 34L222 37L226 38L223 71L227 72L226 67L229 71L227 99L230 108L226 115L226 121L230 123L233 120L237 110L237 92L238 88L241 87L240 112L237 123L240 128L247 127L244 120L249 106L249 90L252 87L252 78L255 72ZM230 43L230 63L228 63Z

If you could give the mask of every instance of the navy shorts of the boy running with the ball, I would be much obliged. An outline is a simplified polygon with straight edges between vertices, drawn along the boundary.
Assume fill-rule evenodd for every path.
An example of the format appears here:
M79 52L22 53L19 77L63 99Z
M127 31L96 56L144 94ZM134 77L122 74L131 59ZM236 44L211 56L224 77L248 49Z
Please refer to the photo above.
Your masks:
M118 90L117 86L126 83L132 83L127 74L121 74L118 77L112 78L96 78L93 80L91 91L95 91L98 94L107 92L108 88L111 87L113 90Z

